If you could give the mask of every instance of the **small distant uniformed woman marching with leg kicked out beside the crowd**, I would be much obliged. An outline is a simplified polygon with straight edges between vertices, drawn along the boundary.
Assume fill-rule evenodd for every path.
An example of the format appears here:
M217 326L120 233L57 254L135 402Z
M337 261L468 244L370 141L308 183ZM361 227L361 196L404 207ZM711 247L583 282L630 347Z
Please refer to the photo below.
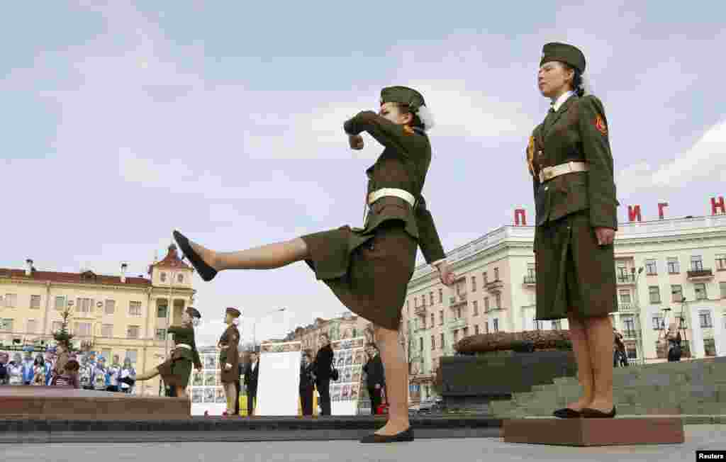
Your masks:
M151 371L137 375L136 380L126 377L121 381L133 386L136 381L149 380L161 375L164 384L174 387L176 397L187 397L187 384L189 384L189 376L192 374L192 363L197 371L202 370L202 362L194 341L195 321L200 318L202 315L195 308L189 307L184 310L181 315L181 326L171 326L167 329L167 334L174 334L174 350L171 351L171 358L152 368Z

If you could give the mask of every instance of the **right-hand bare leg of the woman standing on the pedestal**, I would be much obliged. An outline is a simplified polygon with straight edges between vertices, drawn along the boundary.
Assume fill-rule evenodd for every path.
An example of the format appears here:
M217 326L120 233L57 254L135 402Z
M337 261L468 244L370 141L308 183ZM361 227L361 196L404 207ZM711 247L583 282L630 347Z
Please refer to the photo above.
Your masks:
M593 395L588 408L608 413L613 408L613 324L610 316L587 318L587 343L592 364Z

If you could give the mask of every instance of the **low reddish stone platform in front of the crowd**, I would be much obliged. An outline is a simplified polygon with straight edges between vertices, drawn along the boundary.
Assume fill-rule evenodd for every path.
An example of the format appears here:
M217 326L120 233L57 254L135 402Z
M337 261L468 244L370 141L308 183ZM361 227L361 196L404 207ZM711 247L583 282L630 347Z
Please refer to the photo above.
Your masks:
M159 420L189 418L188 398L149 397L67 387L0 387L0 418Z

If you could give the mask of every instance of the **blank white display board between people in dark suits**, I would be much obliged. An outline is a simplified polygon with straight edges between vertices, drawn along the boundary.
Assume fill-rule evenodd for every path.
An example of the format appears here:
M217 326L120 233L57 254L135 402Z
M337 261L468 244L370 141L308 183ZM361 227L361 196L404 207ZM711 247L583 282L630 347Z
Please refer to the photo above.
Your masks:
M301 342L260 345L256 416L297 416Z

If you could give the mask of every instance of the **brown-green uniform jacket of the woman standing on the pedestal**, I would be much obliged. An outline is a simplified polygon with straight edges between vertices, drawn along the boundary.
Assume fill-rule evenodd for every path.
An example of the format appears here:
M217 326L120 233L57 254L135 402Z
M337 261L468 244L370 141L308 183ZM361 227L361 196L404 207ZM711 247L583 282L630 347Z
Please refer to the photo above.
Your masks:
M537 226L589 209L593 228L618 228L613 156L603 103L596 96L570 96L532 132L527 147ZM539 171L566 162L587 162L587 172L540 183ZM535 243L535 249L537 243Z

